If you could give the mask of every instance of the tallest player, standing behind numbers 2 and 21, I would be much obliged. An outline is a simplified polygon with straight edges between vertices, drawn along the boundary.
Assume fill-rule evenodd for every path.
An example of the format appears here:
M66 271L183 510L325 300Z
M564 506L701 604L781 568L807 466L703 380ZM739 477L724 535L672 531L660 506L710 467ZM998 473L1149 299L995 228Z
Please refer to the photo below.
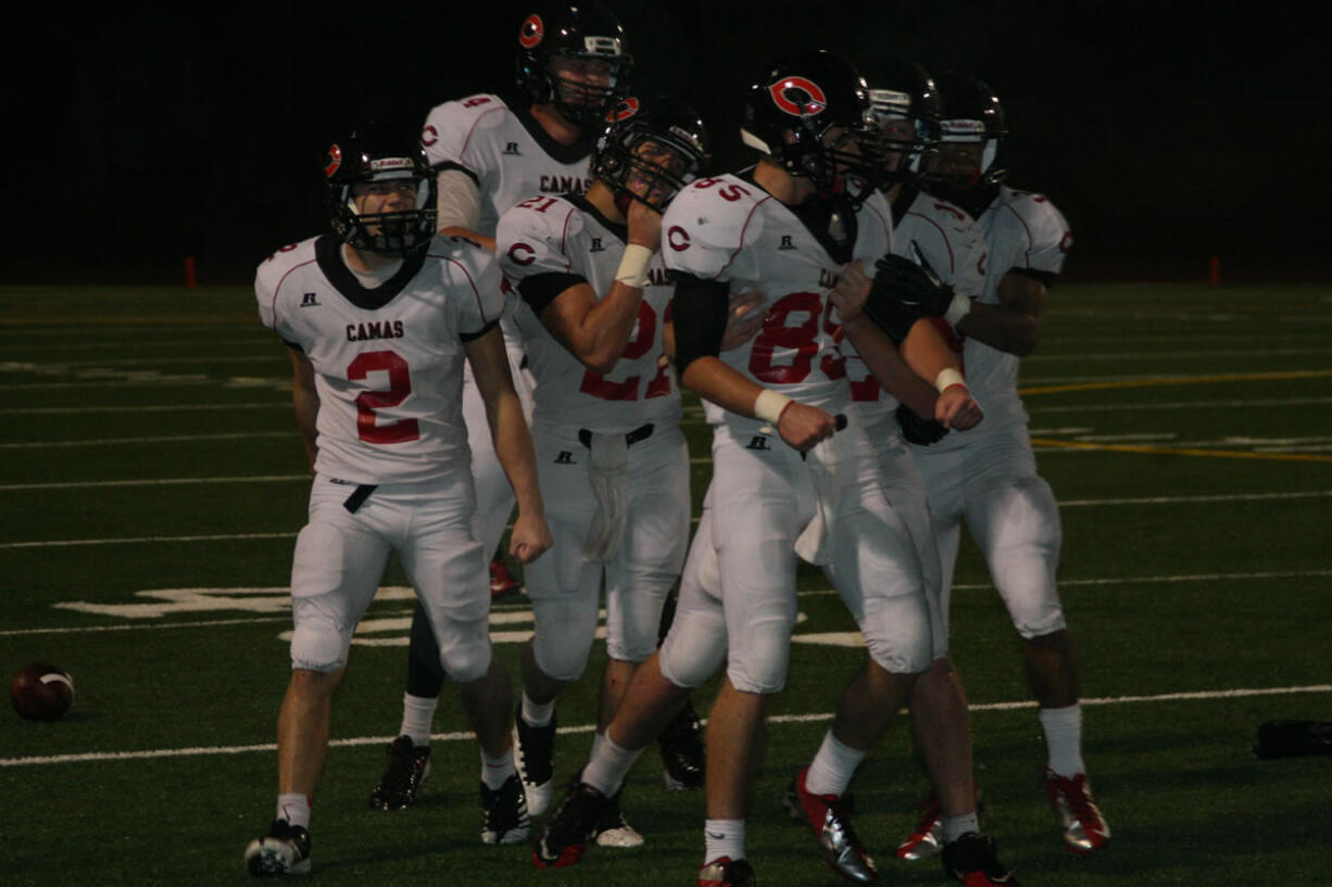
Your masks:
M430 111L421 135L437 173L441 233L468 237L494 249L500 216L533 194L581 194L590 184L587 164L606 113L627 93L633 57L615 16L599 3L535 4L518 28L517 96L480 93L446 101ZM531 378L523 368L522 337L511 308L501 317L518 394L531 416ZM464 377L464 417L477 485L480 535L488 551L503 537L513 511L513 491L496 459L485 409L470 376ZM502 557L492 561L492 591L513 591ZM444 683L434 637L425 611L412 619L408 681L398 737L388 748L388 766L370 792L370 804L400 810L416 799L429 774L430 725ZM526 726L553 742L554 723L526 706ZM679 730L662 742L669 771L697 779L701 742L689 730L691 710ZM671 740L674 739L674 740ZM539 766L538 766L539 768ZM541 774L537 774L541 775ZM549 776L546 776L549 779ZM538 815L541 808L533 810Z

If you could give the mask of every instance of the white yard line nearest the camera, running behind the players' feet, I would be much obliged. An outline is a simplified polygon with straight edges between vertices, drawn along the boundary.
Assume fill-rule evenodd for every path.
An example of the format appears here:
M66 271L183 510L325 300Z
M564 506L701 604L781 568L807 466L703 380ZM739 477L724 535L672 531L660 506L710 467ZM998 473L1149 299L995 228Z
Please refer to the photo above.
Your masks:
M1208 702L1213 699L1243 699L1249 697L1284 697L1284 695L1297 695L1297 694L1317 694L1317 693L1332 693L1332 685L1317 683L1304 687L1244 687L1235 690L1201 690L1193 693L1163 693L1151 697L1102 697L1094 699L1082 699L1084 706L1127 706L1127 705L1143 705L1151 702ZM1012 711L1016 709L1034 709L1036 706L1032 701L1018 701L1018 702L990 702L979 703L971 706L971 711ZM775 715L767 719L769 723L786 725L786 723L811 723L831 721L831 713L811 713L811 714L798 714L798 715ZM705 721L706 723L706 721ZM574 726L559 727L557 733L562 734L579 734L591 733L595 730L595 725L582 723ZM381 746L393 742L394 737L353 737L348 739L333 739L329 742L330 746L337 748L348 748L356 746ZM472 742L474 735L472 733L437 733L432 734L430 739L434 742ZM277 751L277 744L272 742L261 742L248 746L196 746L192 748L149 748L143 751L89 751L83 754L64 754L64 755L36 755L29 758L0 758L0 767L29 767L39 764L63 764L63 763L101 763L107 760L159 760L163 758L201 758L212 755L240 755L249 752L272 752Z

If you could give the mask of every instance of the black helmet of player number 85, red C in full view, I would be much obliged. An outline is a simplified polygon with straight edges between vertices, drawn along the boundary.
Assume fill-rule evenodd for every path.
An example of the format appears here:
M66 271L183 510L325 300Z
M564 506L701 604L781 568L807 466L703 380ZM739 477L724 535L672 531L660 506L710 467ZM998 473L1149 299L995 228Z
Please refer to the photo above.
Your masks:
M829 144L834 128L844 135ZM872 182L883 162L864 79L826 49L779 61L758 77L745 100L741 139L823 192L836 190L843 172Z

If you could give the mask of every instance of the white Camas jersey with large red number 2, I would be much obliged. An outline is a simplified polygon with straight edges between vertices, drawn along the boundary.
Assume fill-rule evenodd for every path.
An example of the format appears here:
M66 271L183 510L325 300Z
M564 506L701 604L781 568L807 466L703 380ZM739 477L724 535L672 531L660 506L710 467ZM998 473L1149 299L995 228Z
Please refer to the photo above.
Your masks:
M260 320L314 366L316 473L397 483L466 471L462 342L500 317L494 258L436 237L365 289L341 253L337 237L313 237L273 253L254 277Z

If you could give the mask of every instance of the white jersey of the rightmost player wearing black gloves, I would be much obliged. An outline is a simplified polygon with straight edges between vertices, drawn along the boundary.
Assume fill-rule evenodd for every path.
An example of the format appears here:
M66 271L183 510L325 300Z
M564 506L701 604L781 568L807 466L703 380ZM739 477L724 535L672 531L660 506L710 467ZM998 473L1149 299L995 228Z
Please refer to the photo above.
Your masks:
M1044 194L1014 190L1007 185L980 217L986 236L986 284L980 301L999 304L999 281L1010 270L1034 270L1058 274L1063 270L1064 256L1072 248L1074 237L1063 214ZM1018 397L1016 354L967 338L963 348L963 369L967 386L986 412L986 425L1027 421L1027 412ZM948 434L938 445L943 449L964 444L962 434Z

